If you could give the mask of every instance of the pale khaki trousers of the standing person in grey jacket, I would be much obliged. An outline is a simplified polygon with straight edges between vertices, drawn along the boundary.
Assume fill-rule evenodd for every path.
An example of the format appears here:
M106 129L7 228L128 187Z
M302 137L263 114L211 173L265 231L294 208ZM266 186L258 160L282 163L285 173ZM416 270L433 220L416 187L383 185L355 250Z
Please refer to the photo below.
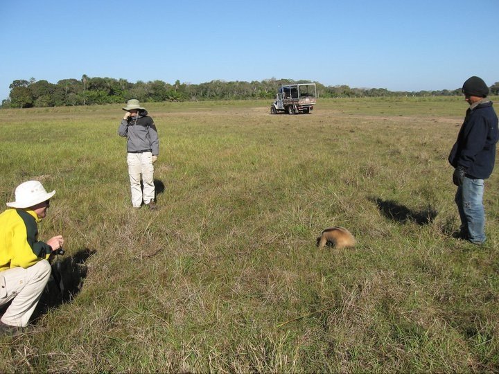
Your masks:
M155 197L154 166L152 166L152 153L128 153L128 175L130 177L130 190L132 191L132 205L139 208L142 204L149 204ZM143 191L141 190L141 175Z

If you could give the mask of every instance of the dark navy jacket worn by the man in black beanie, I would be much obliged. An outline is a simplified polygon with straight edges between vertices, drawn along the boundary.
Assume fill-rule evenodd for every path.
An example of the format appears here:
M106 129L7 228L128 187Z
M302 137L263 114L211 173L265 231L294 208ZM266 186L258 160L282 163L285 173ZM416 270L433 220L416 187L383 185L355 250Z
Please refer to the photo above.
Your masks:
M498 117L492 102L480 103L474 109L466 111L448 161L454 168L464 168L466 177L487 179L496 160L498 139Z

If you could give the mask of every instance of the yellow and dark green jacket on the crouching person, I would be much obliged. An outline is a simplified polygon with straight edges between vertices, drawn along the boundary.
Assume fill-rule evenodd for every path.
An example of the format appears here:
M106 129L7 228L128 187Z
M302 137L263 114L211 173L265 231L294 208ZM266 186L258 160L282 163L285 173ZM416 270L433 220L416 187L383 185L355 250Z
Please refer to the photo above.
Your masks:
M0 214L0 271L30 267L49 258L52 248L38 240L37 214L28 209L8 208Z

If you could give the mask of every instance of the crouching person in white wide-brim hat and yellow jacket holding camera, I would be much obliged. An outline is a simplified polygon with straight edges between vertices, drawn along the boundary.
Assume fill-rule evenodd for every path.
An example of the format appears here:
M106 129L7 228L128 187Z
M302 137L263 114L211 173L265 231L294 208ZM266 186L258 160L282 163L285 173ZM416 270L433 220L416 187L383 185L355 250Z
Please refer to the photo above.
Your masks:
M0 306L10 306L0 319L0 335L28 325L51 275L49 256L64 238L38 240L38 222L47 213L55 190L48 193L40 181L26 181L15 190L15 202L0 214Z

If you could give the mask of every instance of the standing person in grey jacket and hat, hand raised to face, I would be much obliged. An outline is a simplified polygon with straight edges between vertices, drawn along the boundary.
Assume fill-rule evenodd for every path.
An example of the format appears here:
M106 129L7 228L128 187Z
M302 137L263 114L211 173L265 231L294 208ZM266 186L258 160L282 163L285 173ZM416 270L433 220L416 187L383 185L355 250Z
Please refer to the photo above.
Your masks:
M142 202L156 209L154 163L159 154L156 126L139 100L128 100L126 111L118 127L119 136L127 138L127 163L132 191L132 206L140 208ZM143 190L141 189L141 176Z

